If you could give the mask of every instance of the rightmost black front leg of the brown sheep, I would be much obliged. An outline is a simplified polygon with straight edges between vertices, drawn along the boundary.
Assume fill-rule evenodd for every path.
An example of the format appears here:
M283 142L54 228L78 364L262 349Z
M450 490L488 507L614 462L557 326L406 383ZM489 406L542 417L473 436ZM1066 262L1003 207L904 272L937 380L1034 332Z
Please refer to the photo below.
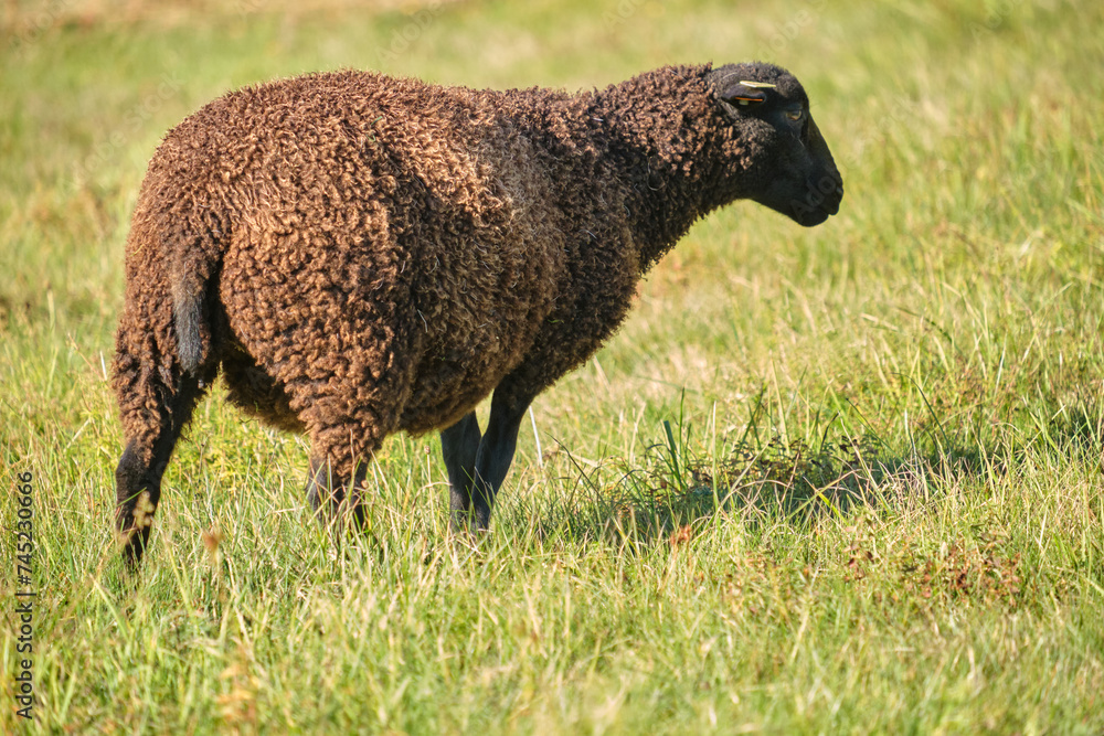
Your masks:
M531 394L518 392L506 382L495 390L487 433L479 441L479 450L476 452L476 482L471 490L471 505L476 529L479 531L490 527L495 495L513 462L518 429L532 399Z

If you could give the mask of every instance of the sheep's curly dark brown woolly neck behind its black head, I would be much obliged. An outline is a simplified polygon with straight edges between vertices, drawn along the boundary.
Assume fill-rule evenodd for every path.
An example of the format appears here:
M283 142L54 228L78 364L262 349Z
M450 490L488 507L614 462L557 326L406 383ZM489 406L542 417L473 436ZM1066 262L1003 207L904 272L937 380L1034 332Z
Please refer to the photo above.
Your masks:
M696 220L734 199L722 184L721 132L709 66L648 72L577 96L532 88L503 95L503 109L534 145L553 178L564 225L585 244L628 231L641 271Z

